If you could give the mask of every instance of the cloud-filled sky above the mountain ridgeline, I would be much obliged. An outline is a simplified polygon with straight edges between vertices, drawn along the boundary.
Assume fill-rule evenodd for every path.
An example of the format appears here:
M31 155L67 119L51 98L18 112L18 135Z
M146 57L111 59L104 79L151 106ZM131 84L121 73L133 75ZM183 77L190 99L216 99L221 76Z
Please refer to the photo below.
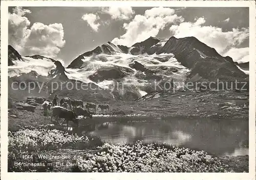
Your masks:
M108 41L132 46L152 37L194 36L233 61L249 61L249 8L9 7L8 43L20 55L68 66Z

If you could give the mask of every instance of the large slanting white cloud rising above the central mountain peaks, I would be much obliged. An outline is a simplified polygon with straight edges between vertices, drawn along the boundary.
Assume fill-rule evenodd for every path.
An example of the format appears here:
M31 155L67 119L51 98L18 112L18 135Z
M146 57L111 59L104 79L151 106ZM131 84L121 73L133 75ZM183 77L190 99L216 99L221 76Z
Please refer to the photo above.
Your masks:
M163 7L146 10L144 15L136 15L131 22L124 23L125 34L120 38L113 39L112 42L131 46L150 36L156 36L166 25L184 21L184 18L174 13L175 10Z

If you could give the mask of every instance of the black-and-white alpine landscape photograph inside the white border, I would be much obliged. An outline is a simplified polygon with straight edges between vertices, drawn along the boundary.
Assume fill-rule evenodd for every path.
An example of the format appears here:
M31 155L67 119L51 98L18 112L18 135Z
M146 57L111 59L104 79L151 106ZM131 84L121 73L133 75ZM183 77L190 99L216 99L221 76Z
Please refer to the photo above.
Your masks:
M7 17L8 172L249 172L249 7Z

